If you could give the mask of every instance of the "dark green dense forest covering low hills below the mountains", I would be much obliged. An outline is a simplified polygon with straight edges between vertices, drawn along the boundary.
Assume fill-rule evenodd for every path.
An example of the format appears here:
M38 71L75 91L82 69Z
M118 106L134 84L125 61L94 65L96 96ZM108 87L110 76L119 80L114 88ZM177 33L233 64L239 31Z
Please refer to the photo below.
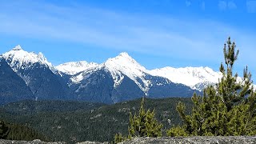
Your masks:
M1 107L0 119L29 126L52 141L111 142L114 134L127 134L130 112L139 110L141 100L114 105L62 101L15 102ZM185 103L187 110L192 106L190 98L146 98L145 108L155 109L156 118L163 123L163 129L168 130L182 122L176 111L178 102Z

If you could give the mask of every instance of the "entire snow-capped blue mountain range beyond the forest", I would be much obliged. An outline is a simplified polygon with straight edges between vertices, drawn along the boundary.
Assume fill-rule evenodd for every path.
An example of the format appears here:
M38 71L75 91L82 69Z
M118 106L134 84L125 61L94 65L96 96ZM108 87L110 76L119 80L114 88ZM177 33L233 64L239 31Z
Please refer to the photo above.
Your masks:
M127 53L101 64L82 61L53 66L42 53L16 46L1 55L1 62L0 70L11 72L0 75L0 85L10 85L2 87L0 104L31 98L116 103L143 96L190 97L221 78L209 67L146 70Z

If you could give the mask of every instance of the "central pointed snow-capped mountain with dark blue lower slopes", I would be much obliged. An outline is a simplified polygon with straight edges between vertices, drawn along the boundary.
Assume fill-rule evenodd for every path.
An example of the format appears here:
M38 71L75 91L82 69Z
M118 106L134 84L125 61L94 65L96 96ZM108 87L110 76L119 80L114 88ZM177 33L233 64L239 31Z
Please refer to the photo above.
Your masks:
M196 91L183 84L176 84L167 78L153 76L147 72L148 70L129 54L121 53L98 66L71 75L68 83L78 99L107 103L122 102L142 96L149 98L187 97Z

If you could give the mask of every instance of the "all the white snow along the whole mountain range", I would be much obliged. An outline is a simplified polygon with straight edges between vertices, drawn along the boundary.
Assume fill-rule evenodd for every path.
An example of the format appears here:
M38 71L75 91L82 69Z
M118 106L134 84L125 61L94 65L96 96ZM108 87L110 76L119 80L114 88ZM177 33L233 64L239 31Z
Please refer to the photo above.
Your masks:
M66 62L56 67L52 66L41 52L38 54L34 52L29 53L22 50L22 47L19 45L15 46L9 52L2 54L2 57L6 61L9 61L14 71L25 69L27 66L39 62L44 66L48 66L54 74L61 71L64 74L71 75L70 80L74 83L81 82L96 70L107 70L114 79L114 87L119 86L126 75L145 93L149 90L151 83L150 79L146 78L148 74L167 78L174 83L182 83L190 86L194 90L202 90L205 86L218 82L218 78L221 77L219 72L214 72L209 67L185 67L177 69L165 67L156 70L146 70L145 67L141 66L125 52L115 58L107 59L102 64L81 61Z

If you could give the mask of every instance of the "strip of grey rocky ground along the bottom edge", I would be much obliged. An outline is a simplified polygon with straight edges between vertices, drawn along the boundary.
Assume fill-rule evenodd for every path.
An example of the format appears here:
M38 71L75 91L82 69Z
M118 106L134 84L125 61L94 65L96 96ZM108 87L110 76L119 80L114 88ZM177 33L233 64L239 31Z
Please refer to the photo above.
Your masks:
M65 142L42 142L34 140L31 142L25 141L10 141L0 140L1 144L62 144ZM77 144L107 144L108 142L78 142ZM120 144L254 144L256 143L255 137L188 137L188 138L133 138L130 141L120 142Z

